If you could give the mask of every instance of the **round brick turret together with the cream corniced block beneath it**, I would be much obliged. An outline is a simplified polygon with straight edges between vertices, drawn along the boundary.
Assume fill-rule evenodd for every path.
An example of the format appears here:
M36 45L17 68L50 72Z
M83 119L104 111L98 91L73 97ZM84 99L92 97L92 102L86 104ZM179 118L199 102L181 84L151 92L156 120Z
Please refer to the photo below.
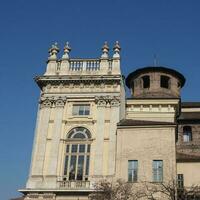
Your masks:
M175 122L184 84L181 73L162 66L148 66L130 73L126 85L132 98L126 101L126 119Z

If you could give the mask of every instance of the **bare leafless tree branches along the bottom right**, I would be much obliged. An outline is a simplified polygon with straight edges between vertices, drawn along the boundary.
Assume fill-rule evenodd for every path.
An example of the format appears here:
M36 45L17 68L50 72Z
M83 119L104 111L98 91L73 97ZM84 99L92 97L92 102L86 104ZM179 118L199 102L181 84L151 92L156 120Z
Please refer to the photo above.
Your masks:
M128 183L102 180L94 185L90 200L200 200L200 187L178 187L177 181Z

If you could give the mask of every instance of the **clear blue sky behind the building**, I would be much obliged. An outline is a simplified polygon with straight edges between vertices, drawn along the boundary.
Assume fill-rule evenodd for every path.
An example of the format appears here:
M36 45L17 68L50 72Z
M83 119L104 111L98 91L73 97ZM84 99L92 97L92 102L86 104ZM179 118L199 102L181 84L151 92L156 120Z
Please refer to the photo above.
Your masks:
M66 41L71 57L98 57L119 40L122 71L153 64L182 72L184 101L200 101L199 0L1 0L0 199L25 186L39 88L49 46Z

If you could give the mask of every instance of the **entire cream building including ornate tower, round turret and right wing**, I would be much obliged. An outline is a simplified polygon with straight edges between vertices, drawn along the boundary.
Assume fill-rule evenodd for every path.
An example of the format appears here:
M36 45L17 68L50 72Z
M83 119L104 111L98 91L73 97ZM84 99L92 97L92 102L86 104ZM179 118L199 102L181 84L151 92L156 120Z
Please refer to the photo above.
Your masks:
M70 58L49 50L46 72L35 78L41 95L26 200L88 199L102 179L200 184L200 103L182 102L185 78L162 66L126 79L120 46L109 57ZM125 98L125 83L132 93Z

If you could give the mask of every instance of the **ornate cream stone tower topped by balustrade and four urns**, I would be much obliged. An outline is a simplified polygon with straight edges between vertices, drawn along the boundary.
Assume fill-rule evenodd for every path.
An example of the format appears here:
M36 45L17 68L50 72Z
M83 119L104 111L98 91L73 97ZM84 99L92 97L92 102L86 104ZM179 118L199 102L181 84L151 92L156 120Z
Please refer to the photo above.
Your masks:
M91 183L115 173L116 127L125 112L120 46L105 43L98 59L70 58L67 43L58 59L49 49L41 89L27 199L83 198ZM46 195L46 196L45 196ZM70 196L70 195L69 195Z

